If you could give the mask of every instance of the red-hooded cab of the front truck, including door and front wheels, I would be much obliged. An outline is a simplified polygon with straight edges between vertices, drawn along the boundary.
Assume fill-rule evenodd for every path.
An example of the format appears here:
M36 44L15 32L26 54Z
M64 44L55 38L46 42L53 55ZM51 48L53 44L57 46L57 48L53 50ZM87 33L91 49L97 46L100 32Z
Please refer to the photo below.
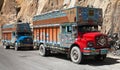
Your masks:
M61 47L70 50L71 60L75 63L79 63L83 56L94 56L97 60L104 60L109 50L107 39L107 35L100 33L98 25L78 23L61 25ZM81 58L76 60L78 57Z

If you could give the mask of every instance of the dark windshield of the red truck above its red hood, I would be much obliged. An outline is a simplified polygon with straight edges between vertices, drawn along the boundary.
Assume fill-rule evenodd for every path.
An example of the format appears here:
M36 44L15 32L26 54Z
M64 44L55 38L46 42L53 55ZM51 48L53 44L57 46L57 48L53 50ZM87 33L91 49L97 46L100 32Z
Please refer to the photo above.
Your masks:
M78 31L79 32L98 32L98 26L93 26L93 25L78 26Z

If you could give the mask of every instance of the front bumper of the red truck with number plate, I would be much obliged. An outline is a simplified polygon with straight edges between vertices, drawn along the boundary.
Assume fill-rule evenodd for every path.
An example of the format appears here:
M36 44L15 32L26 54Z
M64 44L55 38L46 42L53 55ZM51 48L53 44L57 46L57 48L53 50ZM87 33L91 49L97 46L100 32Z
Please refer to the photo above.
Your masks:
M107 54L109 51L108 48L101 48L101 49L95 49L95 48L85 48L83 50L83 55L104 55Z

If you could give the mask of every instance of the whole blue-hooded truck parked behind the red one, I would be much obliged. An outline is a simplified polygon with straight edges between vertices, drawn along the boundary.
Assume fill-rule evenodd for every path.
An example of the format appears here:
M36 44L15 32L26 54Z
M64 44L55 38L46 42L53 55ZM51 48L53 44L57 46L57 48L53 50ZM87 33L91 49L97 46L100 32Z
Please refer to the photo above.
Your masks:
M33 49L33 37L29 23L17 22L2 25L2 43L5 49L14 47Z

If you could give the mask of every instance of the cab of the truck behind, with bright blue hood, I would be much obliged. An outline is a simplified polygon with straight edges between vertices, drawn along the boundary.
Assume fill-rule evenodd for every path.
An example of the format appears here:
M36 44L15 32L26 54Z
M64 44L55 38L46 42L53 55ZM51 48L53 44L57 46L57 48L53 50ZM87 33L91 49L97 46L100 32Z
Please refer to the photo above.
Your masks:
M31 32L16 32L12 38L12 44L16 51L19 50L19 48L33 49L33 38Z

